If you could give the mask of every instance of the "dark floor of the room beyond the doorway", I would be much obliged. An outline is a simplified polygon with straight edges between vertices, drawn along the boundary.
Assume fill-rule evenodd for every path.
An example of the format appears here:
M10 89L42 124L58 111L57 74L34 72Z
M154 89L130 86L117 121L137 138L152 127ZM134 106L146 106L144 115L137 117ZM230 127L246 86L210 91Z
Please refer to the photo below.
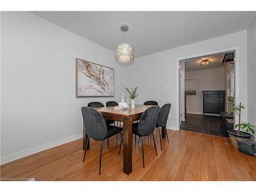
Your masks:
M181 130L223 136L221 118L219 116L197 115L187 113L185 121L181 121Z

